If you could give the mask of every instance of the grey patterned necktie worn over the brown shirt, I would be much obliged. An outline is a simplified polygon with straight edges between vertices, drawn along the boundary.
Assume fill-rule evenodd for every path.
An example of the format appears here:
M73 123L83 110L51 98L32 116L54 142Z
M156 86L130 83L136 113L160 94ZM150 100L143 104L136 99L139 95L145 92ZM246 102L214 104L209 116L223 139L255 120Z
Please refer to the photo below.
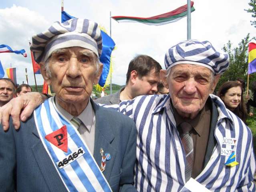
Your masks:
M185 180L186 182L191 178L193 166L193 139L189 131L193 128L189 123L182 122L178 128L181 132L181 142L186 153L185 164Z

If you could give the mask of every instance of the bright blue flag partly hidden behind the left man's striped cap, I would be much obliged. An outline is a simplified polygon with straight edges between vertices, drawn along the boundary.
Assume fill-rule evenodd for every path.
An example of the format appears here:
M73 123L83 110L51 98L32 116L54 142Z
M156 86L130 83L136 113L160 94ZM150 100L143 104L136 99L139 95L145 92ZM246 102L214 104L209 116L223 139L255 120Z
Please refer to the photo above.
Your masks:
M67 20L73 19L75 17L67 14L67 12L62 11L61 12L61 22L65 22ZM102 36L102 53L100 56L100 61L103 64L103 70L102 70L102 74L101 74L101 78L99 80L99 85L101 86L101 89L103 87L105 87L106 85L106 80L107 77L109 76L109 72L110 72L110 64L111 64L111 53L113 51L113 49L115 48L115 42L113 41L113 39L108 36L105 32L103 32L101 30L101 36ZM101 90L100 90L101 91Z

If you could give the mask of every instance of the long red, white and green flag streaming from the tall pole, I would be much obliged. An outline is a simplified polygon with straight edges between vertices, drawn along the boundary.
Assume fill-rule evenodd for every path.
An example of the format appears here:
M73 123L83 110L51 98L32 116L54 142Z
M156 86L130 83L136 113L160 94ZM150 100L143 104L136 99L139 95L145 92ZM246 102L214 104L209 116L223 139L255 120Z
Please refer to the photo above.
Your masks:
M191 12L195 10L194 2L191 1ZM140 22L147 25L164 25L176 22L181 18L187 16L187 5L183 5L173 11L153 16L153 17L130 17L130 16L113 16L112 18L117 22Z

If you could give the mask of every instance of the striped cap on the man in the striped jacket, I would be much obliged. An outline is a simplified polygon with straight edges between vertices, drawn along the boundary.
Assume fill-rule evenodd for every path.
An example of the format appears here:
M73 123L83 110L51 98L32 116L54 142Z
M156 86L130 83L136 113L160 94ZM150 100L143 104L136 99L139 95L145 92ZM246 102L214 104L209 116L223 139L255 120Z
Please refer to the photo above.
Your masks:
M228 54L217 52L209 41L181 41L165 54L165 68L177 64L194 64L209 68L214 75L224 73L229 66Z

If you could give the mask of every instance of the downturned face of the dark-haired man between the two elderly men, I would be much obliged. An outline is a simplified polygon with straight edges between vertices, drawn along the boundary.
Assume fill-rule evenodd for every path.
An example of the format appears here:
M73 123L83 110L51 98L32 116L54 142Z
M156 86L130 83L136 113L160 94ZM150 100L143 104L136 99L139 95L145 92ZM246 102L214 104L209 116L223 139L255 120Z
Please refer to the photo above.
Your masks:
M157 83L160 82L159 73L155 73L155 69L152 69L149 74L142 76L134 80L133 84L133 98L140 95L151 95L157 92Z

